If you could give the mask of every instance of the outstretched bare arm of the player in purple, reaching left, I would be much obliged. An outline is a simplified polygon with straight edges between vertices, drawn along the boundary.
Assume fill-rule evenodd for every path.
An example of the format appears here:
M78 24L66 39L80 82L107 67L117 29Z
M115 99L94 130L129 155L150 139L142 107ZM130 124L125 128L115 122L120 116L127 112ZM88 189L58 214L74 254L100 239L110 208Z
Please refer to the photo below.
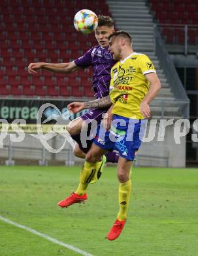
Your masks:
M36 70L48 70L56 73L71 73L75 72L76 70L79 70L80 67L78 67L74 61L68 62L68 63L45 63L45 62L36 62L36 63L30 63L27 70L29 74L35 74L37 73Z

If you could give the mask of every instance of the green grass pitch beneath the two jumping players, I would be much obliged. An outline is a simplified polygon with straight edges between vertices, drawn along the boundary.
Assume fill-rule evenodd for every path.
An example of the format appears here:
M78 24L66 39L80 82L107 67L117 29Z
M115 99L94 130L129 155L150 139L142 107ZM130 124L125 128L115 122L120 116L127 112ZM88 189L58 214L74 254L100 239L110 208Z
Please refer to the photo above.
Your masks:
M105 236L118 213L116 167L90 184L88 202L59 209L80 167L0 167L0 215L95 256L198 255L198 169L134 168L127 223ZM0 221L1 256L79 255Z

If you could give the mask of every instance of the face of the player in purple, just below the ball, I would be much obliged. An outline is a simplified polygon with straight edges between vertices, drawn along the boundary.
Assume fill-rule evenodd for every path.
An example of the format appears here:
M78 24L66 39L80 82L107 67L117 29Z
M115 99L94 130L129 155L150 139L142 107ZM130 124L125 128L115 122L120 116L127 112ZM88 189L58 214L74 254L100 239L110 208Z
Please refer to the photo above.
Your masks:
M97 27L95 30L95 38L97 39L101 47L108 47L108 37L111 33L114 32L114 28L107 26Z

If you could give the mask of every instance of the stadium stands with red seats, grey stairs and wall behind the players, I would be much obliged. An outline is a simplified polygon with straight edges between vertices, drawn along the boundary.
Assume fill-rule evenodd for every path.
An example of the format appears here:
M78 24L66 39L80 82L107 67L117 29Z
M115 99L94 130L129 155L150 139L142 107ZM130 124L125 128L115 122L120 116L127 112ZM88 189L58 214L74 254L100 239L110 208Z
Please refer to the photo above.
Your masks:
M196 1L28 1L2 0L0 3L0 118L27 117L31 131L35 120L31 108L51 102L63 110L68 102L93 98L91 68L69 75L38 71L29 75L31 62L69 62L95 45L94 34L82 35L73 26L73 16L80 9L114 18L117 30L127 30L133 48L146 53L157 69L162 90L152 102L152 118L190 119L198 113L198 6ZM40 102L40 103L39 103ZM52 108L47 115L54 114ZM24 114L25 113L25 114ZM68 120L63 120L67 123ZM181 144L173 140L174 124L169 125L163 142L143 143L137 156L139 166L185 167L198 165L198 145L191 140L190 128ZM26 130L27 131L27 130ZM55 148L63 143L58 134L49 143ZM7 136L1 148L1 164L69 164L77 162L71 147L59 154L45 152L41 142L25 135L23 142L10 143Z

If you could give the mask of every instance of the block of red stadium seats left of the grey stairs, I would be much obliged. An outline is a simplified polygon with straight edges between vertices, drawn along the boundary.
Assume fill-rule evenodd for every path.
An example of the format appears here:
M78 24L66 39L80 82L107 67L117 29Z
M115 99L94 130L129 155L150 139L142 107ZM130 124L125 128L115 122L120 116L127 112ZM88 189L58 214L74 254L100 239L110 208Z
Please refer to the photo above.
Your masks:
M11 89L12 95L83 96L83 87L91 88L87 79L92 75L90 70L67 76L38 70L37 75L29 75L27 66L38 61L69 62L82 56L90 45L96 44L95 36L76 32L73 16L79 8L108 12L107 5L91 0L30 2L2 0L0 4L0 74L8 77L8 81L0 80L6 88L1 94L9 95ZM73 92L69 84L73 85Z

